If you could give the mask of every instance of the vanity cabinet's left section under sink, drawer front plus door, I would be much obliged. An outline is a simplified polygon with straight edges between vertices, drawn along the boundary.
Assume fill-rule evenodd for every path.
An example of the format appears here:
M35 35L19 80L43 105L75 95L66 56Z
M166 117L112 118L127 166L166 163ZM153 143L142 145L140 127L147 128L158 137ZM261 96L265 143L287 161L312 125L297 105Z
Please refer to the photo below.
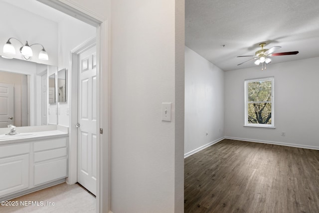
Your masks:
M29 188L30 144L0 146L0 197Z

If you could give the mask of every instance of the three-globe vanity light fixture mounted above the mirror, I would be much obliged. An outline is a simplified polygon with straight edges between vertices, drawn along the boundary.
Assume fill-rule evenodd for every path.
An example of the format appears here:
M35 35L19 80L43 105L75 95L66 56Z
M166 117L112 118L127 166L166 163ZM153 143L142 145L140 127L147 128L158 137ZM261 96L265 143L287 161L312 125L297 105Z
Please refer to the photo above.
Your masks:
M29 60L32 57L33 52L32 52L31 46L36 45L36 44L42 46L42 50L39 53L39 59L40 60L48 60L49 59L48 53L45 51L42 44L33 43L33 44L29 45L28 41L26 41L25 44L23 45L23 43L19 39L14 38L14 37L9 38L8 41L3 45L3 52L4 53L11 54L11 55L15 54L15 48L10 42L10 39L12 39L12 38L19 41L22 44L22 46L20 47L20 52L25 60ZM7 56L2 56L2 57L3 58L10 58Z

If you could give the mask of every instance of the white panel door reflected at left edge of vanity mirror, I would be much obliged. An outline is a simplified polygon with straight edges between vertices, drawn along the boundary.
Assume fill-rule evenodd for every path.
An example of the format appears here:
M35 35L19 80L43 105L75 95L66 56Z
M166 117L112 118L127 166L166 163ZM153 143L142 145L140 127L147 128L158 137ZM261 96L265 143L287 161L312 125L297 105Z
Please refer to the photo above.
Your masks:
M0 83L0 128L13 125L14 116L13 84Z

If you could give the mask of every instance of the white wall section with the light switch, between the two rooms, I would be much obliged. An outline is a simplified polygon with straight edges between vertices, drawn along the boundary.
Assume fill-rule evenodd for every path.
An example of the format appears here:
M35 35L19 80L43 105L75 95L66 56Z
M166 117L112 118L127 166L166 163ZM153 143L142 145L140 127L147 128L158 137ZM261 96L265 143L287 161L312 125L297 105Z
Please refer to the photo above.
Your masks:
M175 43L175 27L183 34L184 18L175 25L175 9L171 0L112 0L113 213L183 212L183 118L176 114L183 113L184 76L176 59L183 60L184 40ZM161 121L162 102L172 102L171 122Z

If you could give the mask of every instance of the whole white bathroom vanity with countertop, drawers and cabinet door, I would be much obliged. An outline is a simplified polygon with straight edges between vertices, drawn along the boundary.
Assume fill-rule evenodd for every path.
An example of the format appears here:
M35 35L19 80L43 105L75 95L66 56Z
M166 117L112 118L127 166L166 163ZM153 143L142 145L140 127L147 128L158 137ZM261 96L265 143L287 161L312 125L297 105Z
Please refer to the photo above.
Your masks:
M65 182L68 128L59 125L0 128L0 201Z

